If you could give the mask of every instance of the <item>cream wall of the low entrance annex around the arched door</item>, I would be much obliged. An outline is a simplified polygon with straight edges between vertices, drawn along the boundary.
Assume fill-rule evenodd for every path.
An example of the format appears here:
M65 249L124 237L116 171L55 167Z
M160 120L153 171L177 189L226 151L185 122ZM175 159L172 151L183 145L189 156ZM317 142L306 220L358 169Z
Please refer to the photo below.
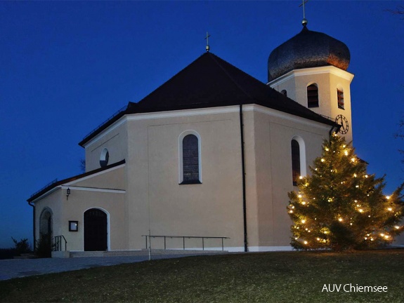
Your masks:
M107 190L110 185L121 191ZM103 184L105 189L103 189ZM67 198L67 188L70 195ZM107 213L108 249L124 250L127 245L127 225L123 220L124 214L124 167L112 168L111 171L100 175L90 176L88 179L76 180L56 187L43 197L39 197L35 204L35 233L39 239L40 217L44 209L52 214L52 236L63 235L67 241L68 250L84 250L84 212L90 208L99 208ZM79 231L69 231L69 221L79 222ZM64 243L63 243L64 245ZM64 247L64 246L63 246Z

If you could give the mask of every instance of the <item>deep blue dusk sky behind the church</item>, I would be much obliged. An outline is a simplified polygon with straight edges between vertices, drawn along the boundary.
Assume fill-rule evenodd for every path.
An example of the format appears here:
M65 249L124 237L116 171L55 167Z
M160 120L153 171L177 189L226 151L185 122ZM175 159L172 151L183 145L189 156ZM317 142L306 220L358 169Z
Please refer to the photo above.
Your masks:
M301 31L301 1L0 1L0 248L30 238L27 198L81 173L78 142L204 53L266 83L268 55ZM353 145L368 173L404 180L404 1L308 1L308 29L351 51ZM285 197L285 205L287 197Z

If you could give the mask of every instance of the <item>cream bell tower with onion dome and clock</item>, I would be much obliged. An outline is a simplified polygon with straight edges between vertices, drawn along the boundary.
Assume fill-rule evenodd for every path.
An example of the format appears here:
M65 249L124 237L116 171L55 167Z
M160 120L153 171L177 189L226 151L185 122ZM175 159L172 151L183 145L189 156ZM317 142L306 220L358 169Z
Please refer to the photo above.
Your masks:
M275 48L268 58L268 85L341 125L352 141L351 54L341 41L307 28Z

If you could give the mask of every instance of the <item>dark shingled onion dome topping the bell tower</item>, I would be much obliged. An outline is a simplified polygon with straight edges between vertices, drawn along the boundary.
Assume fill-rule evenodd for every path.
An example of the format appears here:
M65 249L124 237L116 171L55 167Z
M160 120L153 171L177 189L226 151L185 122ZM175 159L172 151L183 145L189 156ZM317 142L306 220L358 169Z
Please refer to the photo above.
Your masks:
M345 43L313 32L305 25L301 32L275 48L268 58L268 81L293 69L333 65L346 70L351 54Z

